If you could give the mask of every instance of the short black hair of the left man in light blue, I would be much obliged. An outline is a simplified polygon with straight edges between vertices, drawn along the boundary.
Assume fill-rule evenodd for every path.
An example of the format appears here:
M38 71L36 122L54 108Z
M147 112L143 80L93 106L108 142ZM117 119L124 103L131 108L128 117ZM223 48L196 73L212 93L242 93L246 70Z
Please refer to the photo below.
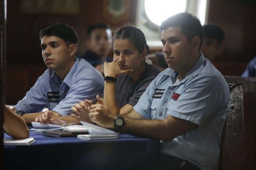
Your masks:
M44 36L56 36L64 40L64 42L70 44L77 45L78 42L78 37L75 30L68 25L62 23L53 24L46 29L41 30L39 32L40 40L42 40Z

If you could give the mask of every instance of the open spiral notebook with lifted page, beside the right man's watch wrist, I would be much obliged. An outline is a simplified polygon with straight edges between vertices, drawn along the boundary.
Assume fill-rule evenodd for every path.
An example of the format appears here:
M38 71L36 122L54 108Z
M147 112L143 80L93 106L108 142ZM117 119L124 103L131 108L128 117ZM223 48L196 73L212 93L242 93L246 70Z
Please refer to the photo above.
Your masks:
M119 133L115 131L102 128L97 125L93 125L87 122L80 121L82 125L88 128L89 134L79 134L77 138L83 140L102 140L102 139L118 139L120 137Z

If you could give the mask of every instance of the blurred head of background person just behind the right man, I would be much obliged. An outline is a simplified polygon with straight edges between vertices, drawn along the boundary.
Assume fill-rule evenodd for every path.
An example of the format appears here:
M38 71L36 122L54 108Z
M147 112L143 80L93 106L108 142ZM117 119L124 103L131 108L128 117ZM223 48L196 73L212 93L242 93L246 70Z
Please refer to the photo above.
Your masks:
M203 26L203 29L204 42L202 46L202 53L205 58L212 62L216 56L222 53L224 32L222 28L214 24L206 24Z

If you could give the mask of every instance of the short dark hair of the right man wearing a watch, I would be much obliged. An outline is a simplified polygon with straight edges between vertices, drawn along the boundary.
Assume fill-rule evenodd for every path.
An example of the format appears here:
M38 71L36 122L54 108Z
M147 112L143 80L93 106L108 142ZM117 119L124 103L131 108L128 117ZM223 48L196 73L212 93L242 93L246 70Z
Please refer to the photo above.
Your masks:
M169 27L181 27L181 31L187 37L189 43L191 43L191 40L195 36L198 36L200 38L199 51L201 51L204 41L204 31L197 17L186 12L176 14L163 21L160 30L163 31Z

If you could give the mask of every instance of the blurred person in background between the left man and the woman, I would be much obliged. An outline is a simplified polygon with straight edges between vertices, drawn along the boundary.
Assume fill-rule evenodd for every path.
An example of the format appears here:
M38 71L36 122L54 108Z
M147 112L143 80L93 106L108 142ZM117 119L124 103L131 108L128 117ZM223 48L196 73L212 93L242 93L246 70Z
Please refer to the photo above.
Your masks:
M111 43L111 30L107 24L92 24L87 29L86 46L87 51L79 55L95 67L102 75L104 61L111 62L112 58L108 57Z

